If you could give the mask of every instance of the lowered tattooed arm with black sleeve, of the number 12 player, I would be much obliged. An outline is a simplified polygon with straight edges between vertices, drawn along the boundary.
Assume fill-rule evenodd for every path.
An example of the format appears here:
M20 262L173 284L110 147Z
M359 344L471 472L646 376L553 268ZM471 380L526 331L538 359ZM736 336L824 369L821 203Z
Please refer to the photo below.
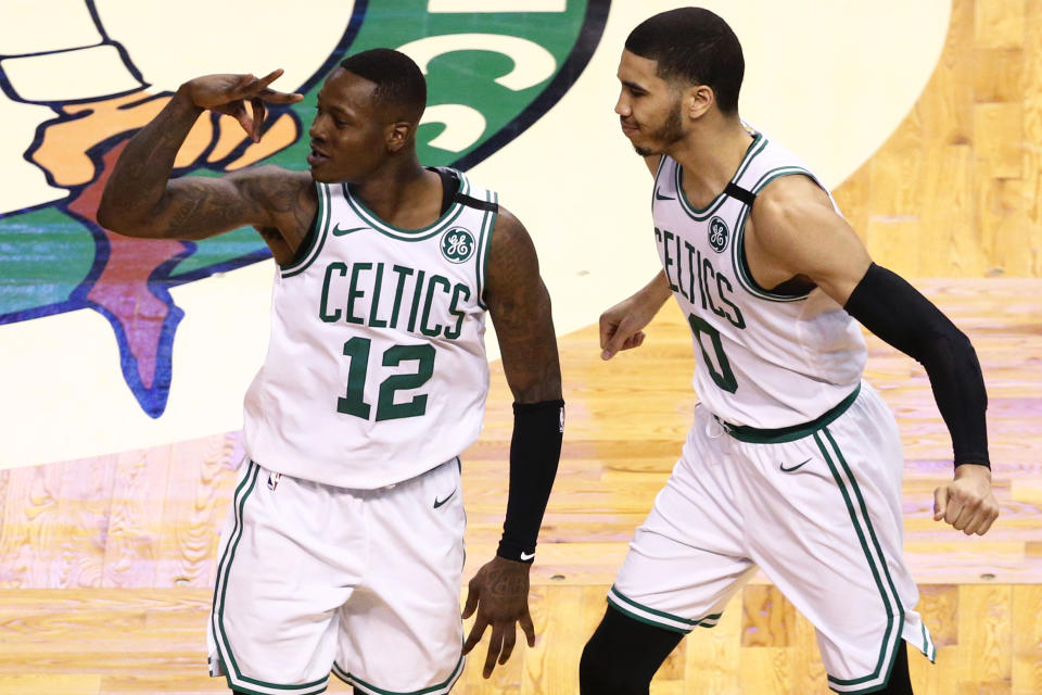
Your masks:
M529 614L529 563L535 556L535 538L557 472L563 430L563 424L559 425L563 413L561 367L550 296L539 278L529 232L501 208L488 249L485 302L514 397L504 540L497 556L471 579L463 608L465 618L478 611L463 654L473 649L485 629L492 627L483 670L488 678L497 659L506 664L513 652L518 624L529 646L535 645Z

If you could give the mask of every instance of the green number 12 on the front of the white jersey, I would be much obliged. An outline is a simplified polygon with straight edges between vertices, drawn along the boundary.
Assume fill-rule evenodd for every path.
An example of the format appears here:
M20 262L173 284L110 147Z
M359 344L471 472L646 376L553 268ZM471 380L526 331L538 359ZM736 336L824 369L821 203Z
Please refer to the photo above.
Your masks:
M336 399L336 410L344 415L354 415L364 420L369 419L372 410L365 401L366 377L369 371L368 338L352 338L344 343L344 354L351 357L351 367L347 370L347 393ZM396 391L419 389L427 383L434 374L433 345L391 345L383 352L384 367L397 367L403 362L417 362L414 374L391 375L380 382L380 396L377 401L377 421L394 420L403 417L419 417L427 413L427 394L412 396L408 403L395 403Z

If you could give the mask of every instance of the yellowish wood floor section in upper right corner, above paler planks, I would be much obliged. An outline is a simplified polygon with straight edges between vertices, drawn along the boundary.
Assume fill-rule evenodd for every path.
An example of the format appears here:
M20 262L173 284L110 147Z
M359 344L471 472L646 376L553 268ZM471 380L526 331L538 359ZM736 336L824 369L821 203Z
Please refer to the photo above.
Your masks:
M1042 1L952 0L919 100L835 194L907 277L1042 277Z

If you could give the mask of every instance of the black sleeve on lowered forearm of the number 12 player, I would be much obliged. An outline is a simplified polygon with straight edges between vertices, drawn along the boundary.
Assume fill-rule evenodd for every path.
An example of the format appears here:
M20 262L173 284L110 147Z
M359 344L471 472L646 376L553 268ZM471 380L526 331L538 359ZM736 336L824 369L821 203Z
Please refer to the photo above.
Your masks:
M513 404L510 492L497 555L531 563L561 459L564 401Z

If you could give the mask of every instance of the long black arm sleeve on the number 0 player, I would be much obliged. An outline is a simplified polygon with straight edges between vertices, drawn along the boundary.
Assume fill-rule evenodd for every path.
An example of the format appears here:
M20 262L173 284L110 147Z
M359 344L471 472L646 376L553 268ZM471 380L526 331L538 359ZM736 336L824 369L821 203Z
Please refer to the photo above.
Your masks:
M926 368L937 409L952 435L955 465L989 466L988 393L969 339L918 290L875 263L844 308Z

